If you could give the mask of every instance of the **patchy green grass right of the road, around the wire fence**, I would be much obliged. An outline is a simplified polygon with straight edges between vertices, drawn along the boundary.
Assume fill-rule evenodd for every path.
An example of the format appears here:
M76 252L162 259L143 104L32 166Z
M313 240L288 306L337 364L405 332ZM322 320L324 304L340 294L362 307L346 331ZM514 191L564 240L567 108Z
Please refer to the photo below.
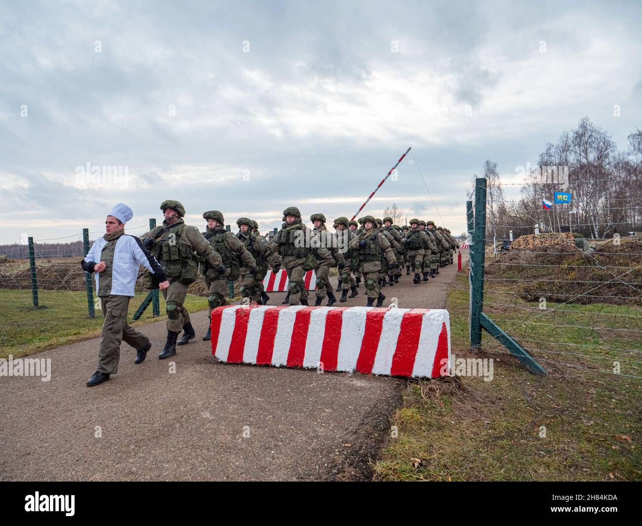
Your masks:
M499 301L499 295L487 300L508 302ZM473 356L467 351L468 301L467 277L462 275L447 304L452 350L458 358ZM502 328L515 324L501 320L523 320L537 313L524 308L537 303L510 301L515 302L515 308L485 311ZM593 326L631 329L638 320L612 314L642 316L642 309L635 307L566 304L560 308L573 312L550 320L551 324L584 320L582 324L591 325L586 319L593 319ZM580 314L600 309L597 320ZM642 348L642 338L628 331L523 324L510 333L546 342L593 343L594 347L578 347L582 349L578 353L608 356L611 361L606 364L622 355L605 351L604 346ZM398 436L388 438L372 464L375 480L642 480L641 380L589 370L601 360L539 353L537 358L553 362L541 362L549 371L541 378L502 349L494 344L482 355L494 359L492 381L465 376L410 383L392 417ZM631 355L627 359L642 361L639 353ZM564 364L583 364L586 369ZM621 365L622 373L642 376L632 368L639 365ZM546 427L546 437L540 437L540 426Z

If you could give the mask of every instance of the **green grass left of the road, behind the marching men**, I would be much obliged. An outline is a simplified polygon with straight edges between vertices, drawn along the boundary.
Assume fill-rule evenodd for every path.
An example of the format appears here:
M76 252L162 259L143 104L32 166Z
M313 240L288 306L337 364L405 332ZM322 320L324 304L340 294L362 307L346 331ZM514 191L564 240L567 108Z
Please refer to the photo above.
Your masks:
M0 358L10 354L18 358L100 336L103 315L96 309L96 317L88 317L85 292L40 290L38 296L39 304L44 308L33 307L30 291L0 290ZM161 295L160 316L152 316L150 305L141 319L131 322L146 296L147 292L137 292L130 301L128 319L134 327L166 319ZM207 309L207 298L190 294L185 305L190 312L204 310Z

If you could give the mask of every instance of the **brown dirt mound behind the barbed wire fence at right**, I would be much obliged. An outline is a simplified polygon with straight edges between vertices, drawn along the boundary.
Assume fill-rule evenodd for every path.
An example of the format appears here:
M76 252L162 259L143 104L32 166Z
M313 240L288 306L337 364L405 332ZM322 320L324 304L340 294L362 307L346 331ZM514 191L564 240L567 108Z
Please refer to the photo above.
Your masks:
M486 279L489 290L526 301L642 305L642 241L593 252L566 243L511 249L487 261Z

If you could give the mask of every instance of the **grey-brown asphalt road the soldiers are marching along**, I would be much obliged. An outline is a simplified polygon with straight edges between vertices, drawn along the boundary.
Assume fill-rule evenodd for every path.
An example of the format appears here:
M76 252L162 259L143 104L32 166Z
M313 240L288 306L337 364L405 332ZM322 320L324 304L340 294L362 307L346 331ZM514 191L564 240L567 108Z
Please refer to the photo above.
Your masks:
M467 257L467 250L462 252ZM443 308L456 274L412 275L386 286L386 304ZM336 283L336 281L335 281ZM365 304L360 295L340 306ZM311 298L314 298L312 293ZM280 304L284 293L271 293ZM1 480L363 480L388 432L406 381L219 364L198 336L158 360L165 323L144 326L152 350L135 365L123 344L118 374L97 387L100 338L44 351L51 380L0 377ZM170 371L175 364L175 372Z

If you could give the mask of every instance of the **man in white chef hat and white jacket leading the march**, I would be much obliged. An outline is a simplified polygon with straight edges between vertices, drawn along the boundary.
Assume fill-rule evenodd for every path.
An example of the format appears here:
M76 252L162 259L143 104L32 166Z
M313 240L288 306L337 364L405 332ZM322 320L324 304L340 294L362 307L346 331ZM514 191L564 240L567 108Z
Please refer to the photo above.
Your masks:
M159 281L160 290L168 288L169 281L159 262L143 247L136 236L125 234L125 223L134 216L126 204L118 203L105 219L105 235L94 241L81 265L85 272L96 278L96 295L105 316L98 351L98 369L87 381L92 387L109 380L118 371L120 345L123 340L136 349L135 364L146 358L152 344L148 337L127 324L129 300L139 266L147 268Z

